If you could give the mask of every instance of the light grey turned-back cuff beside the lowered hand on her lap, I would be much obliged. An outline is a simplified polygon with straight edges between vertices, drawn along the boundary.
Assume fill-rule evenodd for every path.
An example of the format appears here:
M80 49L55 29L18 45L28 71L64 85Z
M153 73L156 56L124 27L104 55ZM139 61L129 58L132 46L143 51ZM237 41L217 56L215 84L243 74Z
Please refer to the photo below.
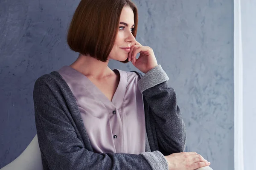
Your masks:
M140 154L148 161L152 170L168 170L168 162L158 150Z

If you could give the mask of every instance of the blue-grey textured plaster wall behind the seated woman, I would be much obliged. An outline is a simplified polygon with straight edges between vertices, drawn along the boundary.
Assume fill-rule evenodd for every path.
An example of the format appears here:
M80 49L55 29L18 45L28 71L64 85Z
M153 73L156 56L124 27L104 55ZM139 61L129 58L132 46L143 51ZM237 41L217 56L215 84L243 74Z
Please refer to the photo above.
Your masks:
M233 170L233 1L136 0L137 40L169 75L187 127L186 151ZM0 1L0 167L35 136L32 90L42 74L72 63L67 25L79 0ZM111 61L109 66L137 70Z

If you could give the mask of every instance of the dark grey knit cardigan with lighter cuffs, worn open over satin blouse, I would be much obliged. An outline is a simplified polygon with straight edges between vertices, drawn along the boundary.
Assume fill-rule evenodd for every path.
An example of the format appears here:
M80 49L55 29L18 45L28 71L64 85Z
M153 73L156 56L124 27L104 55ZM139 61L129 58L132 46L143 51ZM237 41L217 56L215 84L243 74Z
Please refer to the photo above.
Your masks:
M140 77L146 125L144 153L93 153L76 99L53 71L35 82L35 124L44 170L168 170L164 156L183 152L186 127L161 65ZM136 132L134 132L136 133Z

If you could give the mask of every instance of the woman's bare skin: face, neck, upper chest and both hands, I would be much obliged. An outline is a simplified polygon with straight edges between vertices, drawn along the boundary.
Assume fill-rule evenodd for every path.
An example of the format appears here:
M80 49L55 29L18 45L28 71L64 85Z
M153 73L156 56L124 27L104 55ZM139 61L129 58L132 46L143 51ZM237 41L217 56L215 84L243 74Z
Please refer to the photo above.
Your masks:
M90 79L110 101L120 79L119 74L108 67L110 59L125 61L128 58L143 73L147 73L158 65L152 48L143 46L135 40L132 34L133 28L134 13L130 7L125 6L121 12L119 30L107 62L79 54L78 59L70 65ZM136 58L138 53L140 56ZM165 158L168 161L169 170L195 170L210 164L195 152L173 153Z

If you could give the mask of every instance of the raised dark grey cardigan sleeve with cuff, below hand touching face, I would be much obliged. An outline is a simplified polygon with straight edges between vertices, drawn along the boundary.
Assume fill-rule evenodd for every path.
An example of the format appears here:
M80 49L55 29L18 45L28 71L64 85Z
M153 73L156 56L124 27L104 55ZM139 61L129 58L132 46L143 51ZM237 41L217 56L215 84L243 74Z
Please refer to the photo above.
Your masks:
M164 155L183 152L186 145L186 127L177 106L176 93L168 87L167 80L167 74L157 65L138 82L154 119L159 150Z

